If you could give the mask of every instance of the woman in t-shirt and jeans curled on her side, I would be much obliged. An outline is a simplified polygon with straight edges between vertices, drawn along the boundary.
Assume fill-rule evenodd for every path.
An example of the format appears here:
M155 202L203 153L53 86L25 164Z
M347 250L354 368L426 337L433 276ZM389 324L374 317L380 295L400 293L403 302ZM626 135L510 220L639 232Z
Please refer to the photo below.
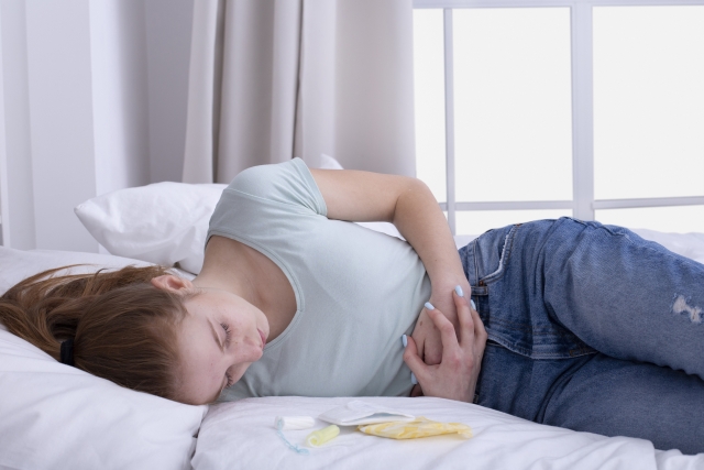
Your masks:
M392 221L408 242L343 220ZM696 453L702 306L704 265L626 229L542 220L458 253L419 181L295 159L224 190L193 282L45 273L8 291L0 320L184 403L424 393Z

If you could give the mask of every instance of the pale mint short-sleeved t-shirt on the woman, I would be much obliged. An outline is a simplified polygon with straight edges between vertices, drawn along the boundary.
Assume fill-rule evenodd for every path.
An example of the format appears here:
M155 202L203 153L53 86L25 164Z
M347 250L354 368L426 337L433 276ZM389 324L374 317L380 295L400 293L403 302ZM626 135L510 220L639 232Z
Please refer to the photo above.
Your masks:
M430 281L403 240L326 217L300 159L248 168L224 189L210 236L260 251L296 294L290 325L220 401L250 396L400 396L410 335Z

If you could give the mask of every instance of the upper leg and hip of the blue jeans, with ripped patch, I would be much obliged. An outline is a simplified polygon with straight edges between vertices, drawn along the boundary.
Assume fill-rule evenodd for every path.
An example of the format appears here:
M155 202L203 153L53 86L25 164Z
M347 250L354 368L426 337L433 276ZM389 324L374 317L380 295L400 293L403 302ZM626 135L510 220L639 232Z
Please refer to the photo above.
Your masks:
M493 230L460 254L490 339L510 351L602 352L704 379L704 265L570 218Z

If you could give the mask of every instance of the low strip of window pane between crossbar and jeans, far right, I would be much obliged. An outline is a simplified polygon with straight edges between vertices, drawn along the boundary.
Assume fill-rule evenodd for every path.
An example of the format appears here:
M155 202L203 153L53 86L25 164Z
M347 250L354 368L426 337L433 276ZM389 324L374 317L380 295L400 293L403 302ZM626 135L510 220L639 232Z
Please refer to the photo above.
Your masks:
M704 232L704 206L597 210L602 223L661 232Z

